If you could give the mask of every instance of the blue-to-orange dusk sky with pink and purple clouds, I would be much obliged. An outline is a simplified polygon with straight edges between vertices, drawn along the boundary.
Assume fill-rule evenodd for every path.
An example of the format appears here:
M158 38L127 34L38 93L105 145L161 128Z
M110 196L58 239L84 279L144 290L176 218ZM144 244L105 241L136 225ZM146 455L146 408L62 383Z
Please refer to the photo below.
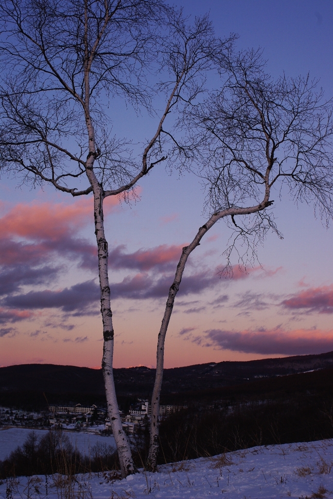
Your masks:
M216 33L264 49L268 71L320 78L333 96L331 1L182 1L209 11ZM111 103L112 104L112 103ZM114 104L117 131L136 142L156 118ZM142 179L138 199L106 201L114 367L155 366L165 301L182 247L207 220L190 174L163 166ZM55 363L99 368L102 321L92 198L0 184L0 366ZM333 350L333 229L312 206L276 199L284 238L269 234L258 262L220 278L230 233L216 224L189 258L166 339L165 366Z

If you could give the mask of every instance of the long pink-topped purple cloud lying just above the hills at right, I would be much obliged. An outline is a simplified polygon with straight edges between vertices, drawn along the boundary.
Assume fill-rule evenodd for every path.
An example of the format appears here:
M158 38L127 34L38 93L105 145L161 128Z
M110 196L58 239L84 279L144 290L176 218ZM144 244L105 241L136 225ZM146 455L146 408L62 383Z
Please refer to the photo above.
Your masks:
M186 339L202 346L262 355L307 355L333 350L333 330L286 331L280 327L243 331L210 329L203 336L190 333Z

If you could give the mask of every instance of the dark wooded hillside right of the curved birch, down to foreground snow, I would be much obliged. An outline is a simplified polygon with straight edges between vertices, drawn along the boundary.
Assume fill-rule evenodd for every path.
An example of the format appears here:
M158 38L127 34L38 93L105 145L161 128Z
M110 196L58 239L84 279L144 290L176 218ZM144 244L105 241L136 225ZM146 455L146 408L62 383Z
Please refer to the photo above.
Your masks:
M159 463L333 438L332 394L332 369L198 393L210 409L193 403L161 422Z

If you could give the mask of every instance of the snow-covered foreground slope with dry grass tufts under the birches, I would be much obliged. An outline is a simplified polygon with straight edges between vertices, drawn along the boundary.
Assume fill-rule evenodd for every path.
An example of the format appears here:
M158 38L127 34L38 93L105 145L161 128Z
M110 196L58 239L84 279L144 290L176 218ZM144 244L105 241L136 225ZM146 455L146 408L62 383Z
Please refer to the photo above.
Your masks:
M333 498L333 439L319 442L254 447L215 458L161 466L158 473L141 472L125 480L110 474L77 476L78 494L68 483L48 478L50 499L225 499ZM44 499L45 477L8 480L1 498ZM74 482L73 482L74 484ZM35 489L36 487L36 489ZM52 498L51 498L52 496Z

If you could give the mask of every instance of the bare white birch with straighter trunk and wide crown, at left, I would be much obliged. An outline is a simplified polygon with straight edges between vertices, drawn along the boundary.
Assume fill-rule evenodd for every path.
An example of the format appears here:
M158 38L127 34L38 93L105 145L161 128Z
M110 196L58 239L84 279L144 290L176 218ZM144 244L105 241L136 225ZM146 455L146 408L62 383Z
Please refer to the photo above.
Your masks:
M163 0L4 0L0 20L0 168L21 175L22 183L48 183L74 197L94 197L102 368L125 477L136 469L112 373L103 202L109 196L126 197L140 178L166 160L175 141L163 128L167 116L198 97L213 53L222 53L233 37L216 41L207 17L190 27ZM148 76L158 71L164 79L153 89ZM152 107L153 91L165 99L160 116ZM105 103L115 96L157 117L141 160L136 161L128 140L111 134Z

